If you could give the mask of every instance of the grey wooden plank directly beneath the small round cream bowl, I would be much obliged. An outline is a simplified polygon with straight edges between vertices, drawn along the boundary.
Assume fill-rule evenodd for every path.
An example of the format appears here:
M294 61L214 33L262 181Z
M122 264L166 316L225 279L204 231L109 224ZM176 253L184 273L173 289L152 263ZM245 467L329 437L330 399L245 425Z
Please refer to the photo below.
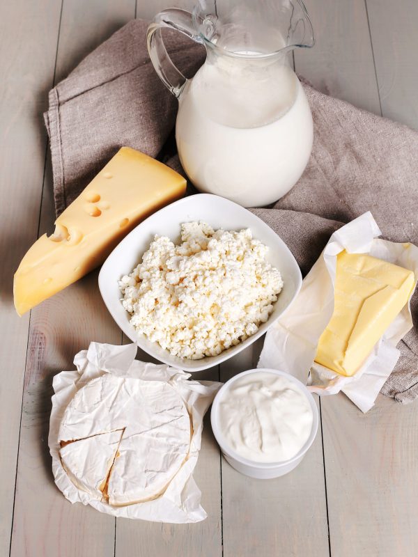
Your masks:
M255 368L263 338L222 363L221 381ZM319 427L304 460L274 480L242 476L222 458L224 556L327 556L328 526Z

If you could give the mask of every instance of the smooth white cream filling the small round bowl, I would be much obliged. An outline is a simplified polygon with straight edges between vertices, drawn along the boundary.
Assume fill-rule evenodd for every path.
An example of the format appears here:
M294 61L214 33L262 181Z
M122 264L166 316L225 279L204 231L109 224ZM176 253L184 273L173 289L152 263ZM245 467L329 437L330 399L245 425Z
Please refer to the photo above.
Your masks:
M219 401L219 429L227 444L253 462L293 458L314 421L307 396L282 375L257 371L231 382Z

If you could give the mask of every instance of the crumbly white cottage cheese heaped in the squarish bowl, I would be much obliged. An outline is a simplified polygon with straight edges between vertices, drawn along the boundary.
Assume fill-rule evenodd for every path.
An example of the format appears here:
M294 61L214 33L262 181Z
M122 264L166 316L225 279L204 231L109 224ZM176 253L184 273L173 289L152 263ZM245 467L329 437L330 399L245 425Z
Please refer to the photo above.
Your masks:
M155 235L142 261L119 281L140 334L173 356L216 356L256 333L283 288L268 247L251 230L181 225L181 243Z

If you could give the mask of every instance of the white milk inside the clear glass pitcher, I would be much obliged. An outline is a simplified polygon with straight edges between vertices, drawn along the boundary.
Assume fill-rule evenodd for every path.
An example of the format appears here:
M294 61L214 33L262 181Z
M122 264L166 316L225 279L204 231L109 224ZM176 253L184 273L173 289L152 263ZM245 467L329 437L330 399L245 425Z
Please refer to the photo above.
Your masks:
M312 139L307 98L283 63L208 60L180 95L176 141L187 175L200 191L245 207L295 185Z

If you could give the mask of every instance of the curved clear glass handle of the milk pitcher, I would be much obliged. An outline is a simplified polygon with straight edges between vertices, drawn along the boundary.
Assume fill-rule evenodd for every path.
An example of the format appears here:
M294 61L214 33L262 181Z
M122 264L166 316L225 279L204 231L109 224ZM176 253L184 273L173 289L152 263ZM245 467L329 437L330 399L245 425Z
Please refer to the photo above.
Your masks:
M179 8L163 10L154 17L153 22L148 26L146 40L151 62L163 84L178 98L187 78L173 64L164 46L161 36L161 29L164 27L176 29L196 42L203 42L203 40L196 35L192 14Z

